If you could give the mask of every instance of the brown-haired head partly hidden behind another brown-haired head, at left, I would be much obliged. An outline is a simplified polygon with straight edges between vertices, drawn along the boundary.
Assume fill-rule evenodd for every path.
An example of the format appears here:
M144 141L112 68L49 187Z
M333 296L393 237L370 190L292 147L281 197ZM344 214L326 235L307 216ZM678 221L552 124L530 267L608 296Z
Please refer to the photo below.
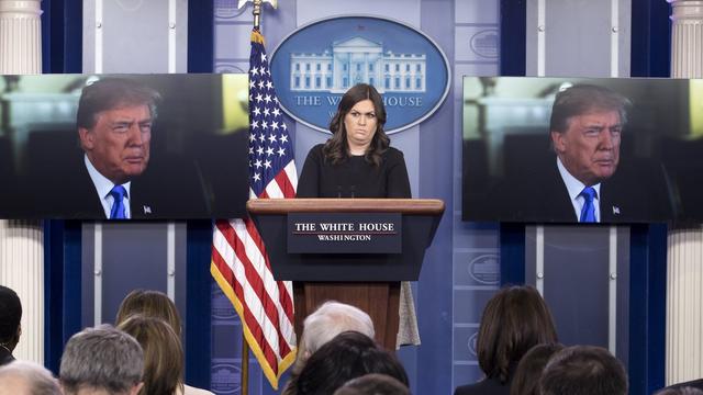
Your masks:
M149 290L130 292L120 304L115 325L120 325L134 314L161 318L171 326L178 338L180 338L181 323L178 308L165 293Z

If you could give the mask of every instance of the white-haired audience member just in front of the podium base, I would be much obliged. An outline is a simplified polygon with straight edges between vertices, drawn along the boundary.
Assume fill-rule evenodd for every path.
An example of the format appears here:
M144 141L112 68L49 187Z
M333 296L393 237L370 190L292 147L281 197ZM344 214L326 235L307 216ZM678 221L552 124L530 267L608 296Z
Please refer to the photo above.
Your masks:
M294 383L310 356L337 335L347 330L358 331L371 339L376 336L371 317L360 308L345 303L325 302L305 317L303 334L298 345L298 356L282 394L294 394Z

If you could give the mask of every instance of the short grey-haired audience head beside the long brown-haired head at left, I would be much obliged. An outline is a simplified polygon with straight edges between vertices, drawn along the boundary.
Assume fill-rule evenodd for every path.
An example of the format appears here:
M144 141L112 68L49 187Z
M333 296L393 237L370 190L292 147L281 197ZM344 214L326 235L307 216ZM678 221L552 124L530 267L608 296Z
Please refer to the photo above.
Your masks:
M140 343L122 330L102 325L68 339L59 383L65 395L134 395L143 385L143 371Z

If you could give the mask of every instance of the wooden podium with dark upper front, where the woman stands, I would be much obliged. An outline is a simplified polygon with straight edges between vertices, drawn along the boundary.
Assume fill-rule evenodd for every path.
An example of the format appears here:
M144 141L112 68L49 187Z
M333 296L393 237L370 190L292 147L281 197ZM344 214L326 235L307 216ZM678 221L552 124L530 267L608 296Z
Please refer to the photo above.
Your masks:
M325 301L355 305L367 312L376 340L395 349L401 281L416 281L425 249L439 225L444 202L425 199L258 199L247 211L266 244L276 280L293 281L295 334L304 318ZM402 244L393 253L290 253L289 214L346 213L373 216L399 214Z

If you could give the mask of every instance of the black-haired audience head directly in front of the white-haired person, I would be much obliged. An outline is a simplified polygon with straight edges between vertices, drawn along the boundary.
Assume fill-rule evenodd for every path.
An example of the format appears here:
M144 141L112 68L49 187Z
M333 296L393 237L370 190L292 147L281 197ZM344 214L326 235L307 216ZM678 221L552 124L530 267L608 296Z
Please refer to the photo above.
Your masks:
M347 381L368 373L381 373L408 385L400 362L373 339L357 331L345 331L315 351L295 383L298 395L328 395Z

